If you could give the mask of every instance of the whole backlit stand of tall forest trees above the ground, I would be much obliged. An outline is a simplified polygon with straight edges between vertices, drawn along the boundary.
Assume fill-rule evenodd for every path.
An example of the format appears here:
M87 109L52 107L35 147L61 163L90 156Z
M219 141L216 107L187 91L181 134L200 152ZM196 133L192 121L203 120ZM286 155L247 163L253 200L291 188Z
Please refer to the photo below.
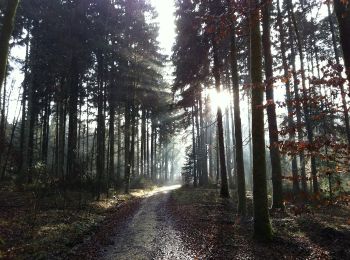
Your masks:
M270 198L295 211L347 201L349 2L175 8L167 57L149 1L0 1L0 44L10 42L0 45L1 182L98 200L151 184L215 185L243 217L251 191L262 240L272 237Z

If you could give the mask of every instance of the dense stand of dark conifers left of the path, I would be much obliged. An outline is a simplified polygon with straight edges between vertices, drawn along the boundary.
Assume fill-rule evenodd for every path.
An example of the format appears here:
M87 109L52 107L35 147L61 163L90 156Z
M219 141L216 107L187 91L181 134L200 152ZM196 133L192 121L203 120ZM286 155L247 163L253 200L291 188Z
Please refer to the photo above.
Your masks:
M154 16L143 1L20 4L12 46L25 48L24 81L17 104L11 82L3 89L2 179L46 174L97 194L127 191L130 176L173 179L177 119Z

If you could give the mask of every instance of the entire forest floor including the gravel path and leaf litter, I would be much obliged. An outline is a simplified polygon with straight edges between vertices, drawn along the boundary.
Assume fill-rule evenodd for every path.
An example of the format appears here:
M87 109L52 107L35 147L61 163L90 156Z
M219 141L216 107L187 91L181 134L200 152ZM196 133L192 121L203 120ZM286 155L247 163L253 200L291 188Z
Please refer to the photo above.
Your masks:
M258 243L251 198L240 220L218 193L169 186L59 209L0 186L0 259L350 259L348 205L298 216L287 205L271 213L273 241Z

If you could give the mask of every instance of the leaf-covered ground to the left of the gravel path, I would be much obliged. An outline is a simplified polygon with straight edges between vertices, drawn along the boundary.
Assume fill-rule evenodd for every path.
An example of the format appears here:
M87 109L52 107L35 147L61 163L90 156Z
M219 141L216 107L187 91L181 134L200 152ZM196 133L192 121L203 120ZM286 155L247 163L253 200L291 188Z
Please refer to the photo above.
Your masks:
M150 192L98 202L69 192L64 201L62 194L38 199L8 187L0 187L0 259L89 259Z

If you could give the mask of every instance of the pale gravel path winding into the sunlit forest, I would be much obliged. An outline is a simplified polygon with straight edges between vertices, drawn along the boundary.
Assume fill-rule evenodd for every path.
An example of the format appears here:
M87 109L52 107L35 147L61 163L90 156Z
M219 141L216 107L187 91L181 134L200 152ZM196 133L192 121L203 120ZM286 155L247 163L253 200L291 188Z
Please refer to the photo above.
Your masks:
M141 202L138 211L118 230L114 244L105 248L103 259L193 259L166 209L168 186Z

